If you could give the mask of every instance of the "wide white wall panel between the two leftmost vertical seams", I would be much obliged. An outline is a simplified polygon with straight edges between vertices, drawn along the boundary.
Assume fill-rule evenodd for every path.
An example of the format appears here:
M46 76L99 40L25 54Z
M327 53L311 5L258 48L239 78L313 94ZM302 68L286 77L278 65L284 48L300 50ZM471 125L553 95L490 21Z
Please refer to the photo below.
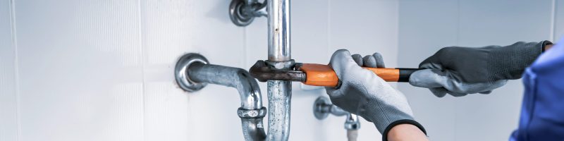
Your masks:
M142 140L138 1L16 1L20 140Z

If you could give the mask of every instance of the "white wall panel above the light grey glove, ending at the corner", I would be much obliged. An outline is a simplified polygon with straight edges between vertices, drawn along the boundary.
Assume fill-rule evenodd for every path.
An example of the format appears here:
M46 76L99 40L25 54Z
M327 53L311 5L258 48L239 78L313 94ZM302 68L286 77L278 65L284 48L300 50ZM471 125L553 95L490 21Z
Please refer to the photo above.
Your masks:
M397 64L398 1L332 0L329 6L329 47L352 54L378 51L389 67ZM329 60L329 59L328 59Z

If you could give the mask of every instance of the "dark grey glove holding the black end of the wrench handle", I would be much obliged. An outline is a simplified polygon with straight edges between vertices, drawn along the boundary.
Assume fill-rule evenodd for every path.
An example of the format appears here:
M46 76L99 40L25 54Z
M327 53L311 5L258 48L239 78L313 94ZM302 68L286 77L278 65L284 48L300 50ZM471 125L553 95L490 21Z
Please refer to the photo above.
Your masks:
M437 97L447 93L489 94L507 80L521 78L525 68L541 54L544 42L517 42L505 47L445 47L419 64L410 84L427 87Z

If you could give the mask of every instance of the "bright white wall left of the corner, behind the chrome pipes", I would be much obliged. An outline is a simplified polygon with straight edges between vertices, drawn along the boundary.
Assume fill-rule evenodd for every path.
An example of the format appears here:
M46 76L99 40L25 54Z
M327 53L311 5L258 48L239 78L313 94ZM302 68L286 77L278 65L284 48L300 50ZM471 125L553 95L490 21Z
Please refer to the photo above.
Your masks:
M236 27L229 2L2 0L0 140L243 140L235 89L183 92L172 72L188 52L245 69L266 59L266 18ZM398 1L292 1L292 12L297 61L327 63L338 46L397 62ZM344 117L314 118L321 95L294 84L290 140L345 140ZM379 140L362 126L361 140Z

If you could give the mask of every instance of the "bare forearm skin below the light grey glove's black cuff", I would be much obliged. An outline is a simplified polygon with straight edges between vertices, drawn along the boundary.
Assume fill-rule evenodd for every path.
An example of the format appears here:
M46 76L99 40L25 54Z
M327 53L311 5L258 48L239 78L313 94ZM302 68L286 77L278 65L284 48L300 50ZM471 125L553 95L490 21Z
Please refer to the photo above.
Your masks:
M389 141L403 141L403 140L428 140L425 133L423 133L417 126L411 124L400 124L394 126L388 133Z

